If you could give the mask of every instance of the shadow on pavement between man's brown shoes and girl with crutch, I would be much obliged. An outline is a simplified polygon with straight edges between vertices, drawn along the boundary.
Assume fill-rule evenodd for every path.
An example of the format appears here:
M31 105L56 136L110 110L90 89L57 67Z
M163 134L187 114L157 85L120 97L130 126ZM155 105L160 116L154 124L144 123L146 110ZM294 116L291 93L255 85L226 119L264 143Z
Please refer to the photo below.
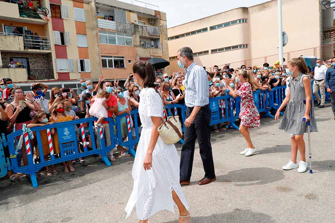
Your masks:
M215 182L231 182L234 186L244 187L251 185L269 184L285 178L282 170L267 167L245 168L229 171L226 175L216 177Z

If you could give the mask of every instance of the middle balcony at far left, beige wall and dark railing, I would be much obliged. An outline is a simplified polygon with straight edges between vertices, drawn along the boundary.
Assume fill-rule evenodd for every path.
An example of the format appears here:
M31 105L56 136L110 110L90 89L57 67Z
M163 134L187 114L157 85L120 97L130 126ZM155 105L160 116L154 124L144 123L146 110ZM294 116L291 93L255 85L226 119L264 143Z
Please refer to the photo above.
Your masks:
M35 51L51 50L50 39L47 36L22 35L0 32L0 50Z

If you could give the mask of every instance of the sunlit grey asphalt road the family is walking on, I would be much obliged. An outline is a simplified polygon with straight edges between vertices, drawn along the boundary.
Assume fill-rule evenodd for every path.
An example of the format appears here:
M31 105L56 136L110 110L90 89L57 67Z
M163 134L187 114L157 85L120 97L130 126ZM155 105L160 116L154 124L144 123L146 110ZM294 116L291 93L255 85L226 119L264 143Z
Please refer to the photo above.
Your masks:
M283 171L290 159L289 135L274 119L261 120L252 131L257 153L241 156L244 139L237 130L211 137L217 180L197 184L204 176L199 149L191 184L183 186L195 222L335 222L334 116L329 104L316 108L318 133L312 134L313 174ZM307 134L305 135L307 142ZM180 154L181 145L176 145ZM299 156L298 156L299 157ZM30 181L0 182L0 222L138 222L124 211L132 191L133 158L107 167L98 158L77 164L76 171ZM175 223L175 214L156 213L149 222Z

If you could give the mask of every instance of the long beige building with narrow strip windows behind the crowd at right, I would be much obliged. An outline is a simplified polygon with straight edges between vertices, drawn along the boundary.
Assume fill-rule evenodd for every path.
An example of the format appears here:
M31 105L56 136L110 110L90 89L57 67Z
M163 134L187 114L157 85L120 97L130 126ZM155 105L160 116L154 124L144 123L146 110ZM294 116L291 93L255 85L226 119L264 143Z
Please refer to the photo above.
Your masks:
M177 65L177 51L189 46L194 60L207 71L213 65L230 63L230 67L271 65L278 56L278 2L272 0L259 5L241 7L169 28L169 57L172 72L183 71ZM331 11L323 17L322 12ZM319 0L283 0L283 31L288 43L284 58L305 55L329 58L334 55L334 38L326 39L323 29L333 27L333 7ZM323 25L323 28L321 28ZM328 51L323 53L322 51ZM285 64L285 63L284 63Z

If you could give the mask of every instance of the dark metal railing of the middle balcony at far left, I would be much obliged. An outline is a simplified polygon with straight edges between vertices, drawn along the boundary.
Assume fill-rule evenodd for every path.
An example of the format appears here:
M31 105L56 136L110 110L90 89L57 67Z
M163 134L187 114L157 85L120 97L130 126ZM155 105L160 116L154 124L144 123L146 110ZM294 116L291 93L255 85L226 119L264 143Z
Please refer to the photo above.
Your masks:
M22 35L0 32L0 35L22 36L24 49L50 50L50 39L47 36Z

